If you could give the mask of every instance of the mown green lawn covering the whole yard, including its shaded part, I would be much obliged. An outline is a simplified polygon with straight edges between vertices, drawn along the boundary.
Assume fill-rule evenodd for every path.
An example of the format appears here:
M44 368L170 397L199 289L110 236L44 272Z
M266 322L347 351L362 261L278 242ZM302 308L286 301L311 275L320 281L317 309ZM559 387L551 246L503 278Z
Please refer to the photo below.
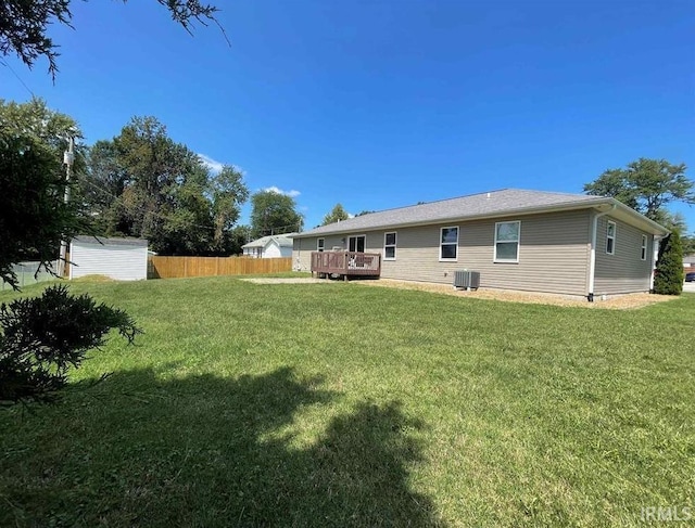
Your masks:
M60 404L0 413L0 526L634 526L694 506L695 295L72 289L146 334L94 351Z

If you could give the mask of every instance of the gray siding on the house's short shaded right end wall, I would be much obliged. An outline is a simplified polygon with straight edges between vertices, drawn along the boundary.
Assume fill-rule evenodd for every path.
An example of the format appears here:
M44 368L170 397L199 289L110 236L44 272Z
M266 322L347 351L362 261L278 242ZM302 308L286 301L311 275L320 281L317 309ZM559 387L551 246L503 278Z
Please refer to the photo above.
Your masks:
M606 253L608 220L616 222L614 255ZM647 235L647 258L641 259L642 235ZM654 237L615 218L598 218L594 295L648 292L654 256Z

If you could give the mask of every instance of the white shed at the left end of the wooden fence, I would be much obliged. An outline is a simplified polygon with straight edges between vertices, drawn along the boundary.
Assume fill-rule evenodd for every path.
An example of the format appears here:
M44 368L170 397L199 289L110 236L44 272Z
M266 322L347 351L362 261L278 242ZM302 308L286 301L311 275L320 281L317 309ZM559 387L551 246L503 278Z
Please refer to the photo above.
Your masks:
M116 281L148 278L148 241L77 236L70 244L70 278L106 275Z

